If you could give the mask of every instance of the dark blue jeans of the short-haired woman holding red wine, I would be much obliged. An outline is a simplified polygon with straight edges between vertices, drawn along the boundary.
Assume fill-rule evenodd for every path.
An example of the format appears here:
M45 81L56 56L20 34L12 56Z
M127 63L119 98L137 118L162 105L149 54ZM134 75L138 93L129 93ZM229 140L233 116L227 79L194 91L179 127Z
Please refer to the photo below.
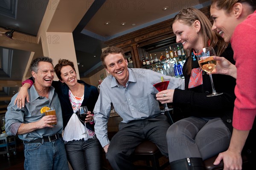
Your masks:
M73 170L101 170L102 146L97 138L68 141L65 148Z

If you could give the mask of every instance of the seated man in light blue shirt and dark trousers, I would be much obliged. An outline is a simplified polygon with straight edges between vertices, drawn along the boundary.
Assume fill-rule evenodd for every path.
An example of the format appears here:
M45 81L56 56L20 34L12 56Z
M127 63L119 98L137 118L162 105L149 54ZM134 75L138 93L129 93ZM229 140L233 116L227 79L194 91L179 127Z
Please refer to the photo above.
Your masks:
M170 125L160 111L155 96L158 91L151 82L171 77L147 69L129 69L123 50L117 47L106 49L101 60L111 75L102 82L94 107L95 132L113 169L135 169L130 155L144 139L154 142L168 156L166 131ZM171 78L168 89L175 88L184 89L184 81ZM111 103L123 121L109 141Z

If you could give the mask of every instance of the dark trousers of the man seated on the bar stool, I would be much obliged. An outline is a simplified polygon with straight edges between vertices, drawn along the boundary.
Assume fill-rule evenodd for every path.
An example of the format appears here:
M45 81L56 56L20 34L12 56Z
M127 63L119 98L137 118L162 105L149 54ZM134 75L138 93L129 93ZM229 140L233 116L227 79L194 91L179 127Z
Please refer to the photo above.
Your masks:
M120 123L119 132L110 141L106 158L114 170L134 170L130 156L145 139L155 143L167 157L166 131L169 127L165 115Z

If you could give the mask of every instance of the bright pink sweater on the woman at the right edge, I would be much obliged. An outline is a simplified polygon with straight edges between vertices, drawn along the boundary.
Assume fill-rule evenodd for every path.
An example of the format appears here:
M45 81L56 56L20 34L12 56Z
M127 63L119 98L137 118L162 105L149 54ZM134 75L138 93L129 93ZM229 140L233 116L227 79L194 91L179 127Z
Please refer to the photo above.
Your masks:
M256 11L236 27L230 42L237 68L233 127L250 130L256 115Z

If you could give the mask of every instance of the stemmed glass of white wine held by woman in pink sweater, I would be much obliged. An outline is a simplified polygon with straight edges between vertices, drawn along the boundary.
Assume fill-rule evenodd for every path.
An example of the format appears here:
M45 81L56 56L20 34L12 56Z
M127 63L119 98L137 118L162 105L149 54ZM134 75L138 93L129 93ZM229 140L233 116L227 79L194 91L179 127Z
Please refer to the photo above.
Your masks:
M216 67L216 61L213 60L213 56L216 56L215 51L212 47L205 47L197 52L197 58L199 66L209 74L211 84L212 84L212 94L207 95L207 97L222 95L223 93L217 93L212 81L212 71Z

